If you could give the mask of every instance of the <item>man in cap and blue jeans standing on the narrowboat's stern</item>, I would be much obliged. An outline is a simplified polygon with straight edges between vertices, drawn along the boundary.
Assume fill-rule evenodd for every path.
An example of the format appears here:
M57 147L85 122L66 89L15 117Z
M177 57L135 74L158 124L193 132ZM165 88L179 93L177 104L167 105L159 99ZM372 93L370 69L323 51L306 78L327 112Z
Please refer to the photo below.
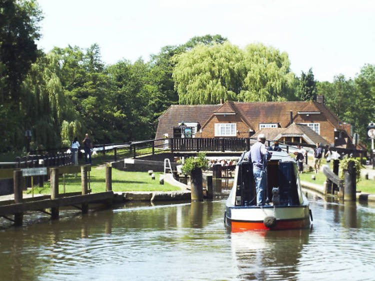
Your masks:
M255 142L249 151L252 162L252 172L255 179L255 188L256 188L256 204L264 205L264 188L266 187L266 167L264 158L269 159L271 157L270 151L265 147L265 135L260 133L257 137L257 142Z

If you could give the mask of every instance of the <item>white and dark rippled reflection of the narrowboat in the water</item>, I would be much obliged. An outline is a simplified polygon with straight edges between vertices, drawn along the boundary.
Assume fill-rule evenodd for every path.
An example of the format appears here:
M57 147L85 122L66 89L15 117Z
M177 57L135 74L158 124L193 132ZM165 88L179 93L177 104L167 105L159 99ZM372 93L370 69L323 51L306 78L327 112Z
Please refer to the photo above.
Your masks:
M232 233L232 258L237 277L249 280L296 279L301 249L309 229Z

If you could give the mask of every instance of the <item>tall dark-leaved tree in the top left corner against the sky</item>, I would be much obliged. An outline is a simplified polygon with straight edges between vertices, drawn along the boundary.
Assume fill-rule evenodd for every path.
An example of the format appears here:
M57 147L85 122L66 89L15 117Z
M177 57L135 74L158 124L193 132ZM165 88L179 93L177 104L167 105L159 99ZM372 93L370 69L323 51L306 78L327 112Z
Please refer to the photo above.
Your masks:
M0 1L0 101L19 102L19 87L37 56L41 10L36 0Z

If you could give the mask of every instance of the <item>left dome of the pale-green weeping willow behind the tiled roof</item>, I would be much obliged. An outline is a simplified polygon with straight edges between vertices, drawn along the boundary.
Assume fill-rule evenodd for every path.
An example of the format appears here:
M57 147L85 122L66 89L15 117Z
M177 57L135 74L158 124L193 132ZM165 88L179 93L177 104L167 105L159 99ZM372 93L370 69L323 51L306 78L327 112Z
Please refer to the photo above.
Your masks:
M176 55L173 70L179 103L217 103L235 100L245 76L244 55L229 42L197 45Z

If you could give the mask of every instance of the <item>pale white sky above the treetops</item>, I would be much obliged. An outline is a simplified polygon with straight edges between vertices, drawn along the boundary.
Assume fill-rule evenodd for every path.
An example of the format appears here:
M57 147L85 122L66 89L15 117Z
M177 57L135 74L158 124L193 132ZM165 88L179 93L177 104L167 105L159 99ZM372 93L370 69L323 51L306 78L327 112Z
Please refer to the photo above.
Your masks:
M220 34L243 48L263 43L288 53L300 76L354 78L375 64L373 0L37 0L38 47L100 47L107 64L148 61L161 47Z

